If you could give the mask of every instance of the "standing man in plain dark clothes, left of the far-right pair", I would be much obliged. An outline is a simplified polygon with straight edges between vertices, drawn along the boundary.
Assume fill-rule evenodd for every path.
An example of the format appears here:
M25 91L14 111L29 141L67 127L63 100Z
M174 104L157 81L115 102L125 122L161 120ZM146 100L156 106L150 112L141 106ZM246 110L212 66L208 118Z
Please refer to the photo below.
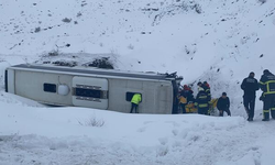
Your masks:
M255 74L251 72L249 77L244 78L241 84L241 89L244 91L243 105L249 116L248 121L253 121L256 90L258 90L258 82L254 77L255 77Z

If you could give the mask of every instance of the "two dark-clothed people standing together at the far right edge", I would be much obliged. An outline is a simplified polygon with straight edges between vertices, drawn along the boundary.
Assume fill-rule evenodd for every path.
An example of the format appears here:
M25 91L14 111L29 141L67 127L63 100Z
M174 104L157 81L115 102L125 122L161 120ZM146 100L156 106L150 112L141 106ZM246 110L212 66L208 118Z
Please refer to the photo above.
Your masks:
M255 110L256 91L261 89L263 92L260 100L264 102L263 121L270 120L270 111L272 118L275 119L275 76L268 69L263 72L263 75L257 82L255 74L250 73L248 78L244 78L241 85L243 95L243 105L249 116L248 121L253 121Z

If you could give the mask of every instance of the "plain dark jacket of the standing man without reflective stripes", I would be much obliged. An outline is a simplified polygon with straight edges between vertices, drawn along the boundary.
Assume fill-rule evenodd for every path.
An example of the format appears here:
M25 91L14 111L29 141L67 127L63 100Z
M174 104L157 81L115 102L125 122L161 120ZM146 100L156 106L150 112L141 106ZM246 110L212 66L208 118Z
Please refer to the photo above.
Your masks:
M253 77L244 78L241 88L244 91L243 96L256 96L256 90L258 90L257 80Z

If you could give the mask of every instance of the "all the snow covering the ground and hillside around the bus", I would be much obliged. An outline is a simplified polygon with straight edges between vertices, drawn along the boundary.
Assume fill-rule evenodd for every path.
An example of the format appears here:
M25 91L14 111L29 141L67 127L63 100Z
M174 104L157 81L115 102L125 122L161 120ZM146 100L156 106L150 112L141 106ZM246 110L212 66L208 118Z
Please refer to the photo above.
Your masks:
M274 121L260 122L260 101L245 121L240 81L275 73L274 29L273 0L0 0L0 165L272 165ZM97 57L208 80L234 117L53 109L3 91L10 65ZM102 127L86 127L95 117Z

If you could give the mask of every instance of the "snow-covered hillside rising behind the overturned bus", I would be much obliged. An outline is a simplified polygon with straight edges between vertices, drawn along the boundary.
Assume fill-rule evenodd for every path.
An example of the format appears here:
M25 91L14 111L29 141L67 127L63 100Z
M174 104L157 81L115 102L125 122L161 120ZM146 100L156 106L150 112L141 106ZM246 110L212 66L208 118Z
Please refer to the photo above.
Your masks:
M244 116L239 82L251 70L275 72L274 12L271 0L2 1L0 57L12 64L108 56L120 69L176 70L187 84L210 81L215 97L227 91L233 114ZM52 51L65 55L46 56Z

